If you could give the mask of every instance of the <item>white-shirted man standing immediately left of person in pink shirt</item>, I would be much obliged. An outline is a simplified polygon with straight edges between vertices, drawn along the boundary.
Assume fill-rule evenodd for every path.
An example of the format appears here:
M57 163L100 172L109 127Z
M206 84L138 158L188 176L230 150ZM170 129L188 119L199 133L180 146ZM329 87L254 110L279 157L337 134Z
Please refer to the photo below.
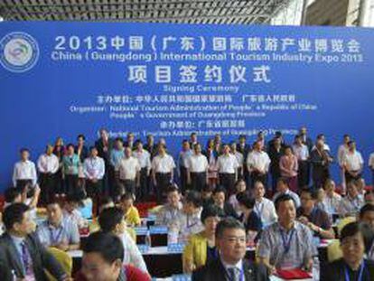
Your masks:
M253 146L253 151L251 151L247 157L247 167L251 183L261 182L266 186L270 158L265 151L261 150L262 146L260 141L257 141Z

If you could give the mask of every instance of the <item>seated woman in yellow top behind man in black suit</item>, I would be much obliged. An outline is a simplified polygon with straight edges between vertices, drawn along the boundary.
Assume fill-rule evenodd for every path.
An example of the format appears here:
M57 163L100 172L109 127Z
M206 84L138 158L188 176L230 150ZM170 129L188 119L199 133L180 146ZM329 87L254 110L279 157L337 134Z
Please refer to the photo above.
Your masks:
M201 211L201 222L204 230L193 234L183 249L183 272L190 274L196 268L202 267L214 258L218 258L216 248L216 227L222 216L222 211L210 205Z

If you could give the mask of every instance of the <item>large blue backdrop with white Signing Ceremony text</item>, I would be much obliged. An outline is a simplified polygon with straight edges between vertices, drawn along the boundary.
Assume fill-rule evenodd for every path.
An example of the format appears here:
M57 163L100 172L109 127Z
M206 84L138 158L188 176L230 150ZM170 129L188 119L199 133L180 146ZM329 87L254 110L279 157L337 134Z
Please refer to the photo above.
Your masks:
M36 160L56 136L93 143L101 126L164 136L174 155L192 131L205 142L281 130L291 141L303 125L324 132L333 155L345 133L366 163L373 148L369 29L0 23L0 62L0 190L20 147Z

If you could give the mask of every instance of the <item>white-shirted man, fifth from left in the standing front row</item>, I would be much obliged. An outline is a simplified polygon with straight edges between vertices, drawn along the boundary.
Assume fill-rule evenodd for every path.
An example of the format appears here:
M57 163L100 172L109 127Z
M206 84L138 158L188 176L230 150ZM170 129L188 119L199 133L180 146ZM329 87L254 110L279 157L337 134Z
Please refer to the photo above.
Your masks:
M125 192L135 194L136 186L139 186L140 164L129 146L126 146L125 157L119 161L117 170L119 182L123 184Z

